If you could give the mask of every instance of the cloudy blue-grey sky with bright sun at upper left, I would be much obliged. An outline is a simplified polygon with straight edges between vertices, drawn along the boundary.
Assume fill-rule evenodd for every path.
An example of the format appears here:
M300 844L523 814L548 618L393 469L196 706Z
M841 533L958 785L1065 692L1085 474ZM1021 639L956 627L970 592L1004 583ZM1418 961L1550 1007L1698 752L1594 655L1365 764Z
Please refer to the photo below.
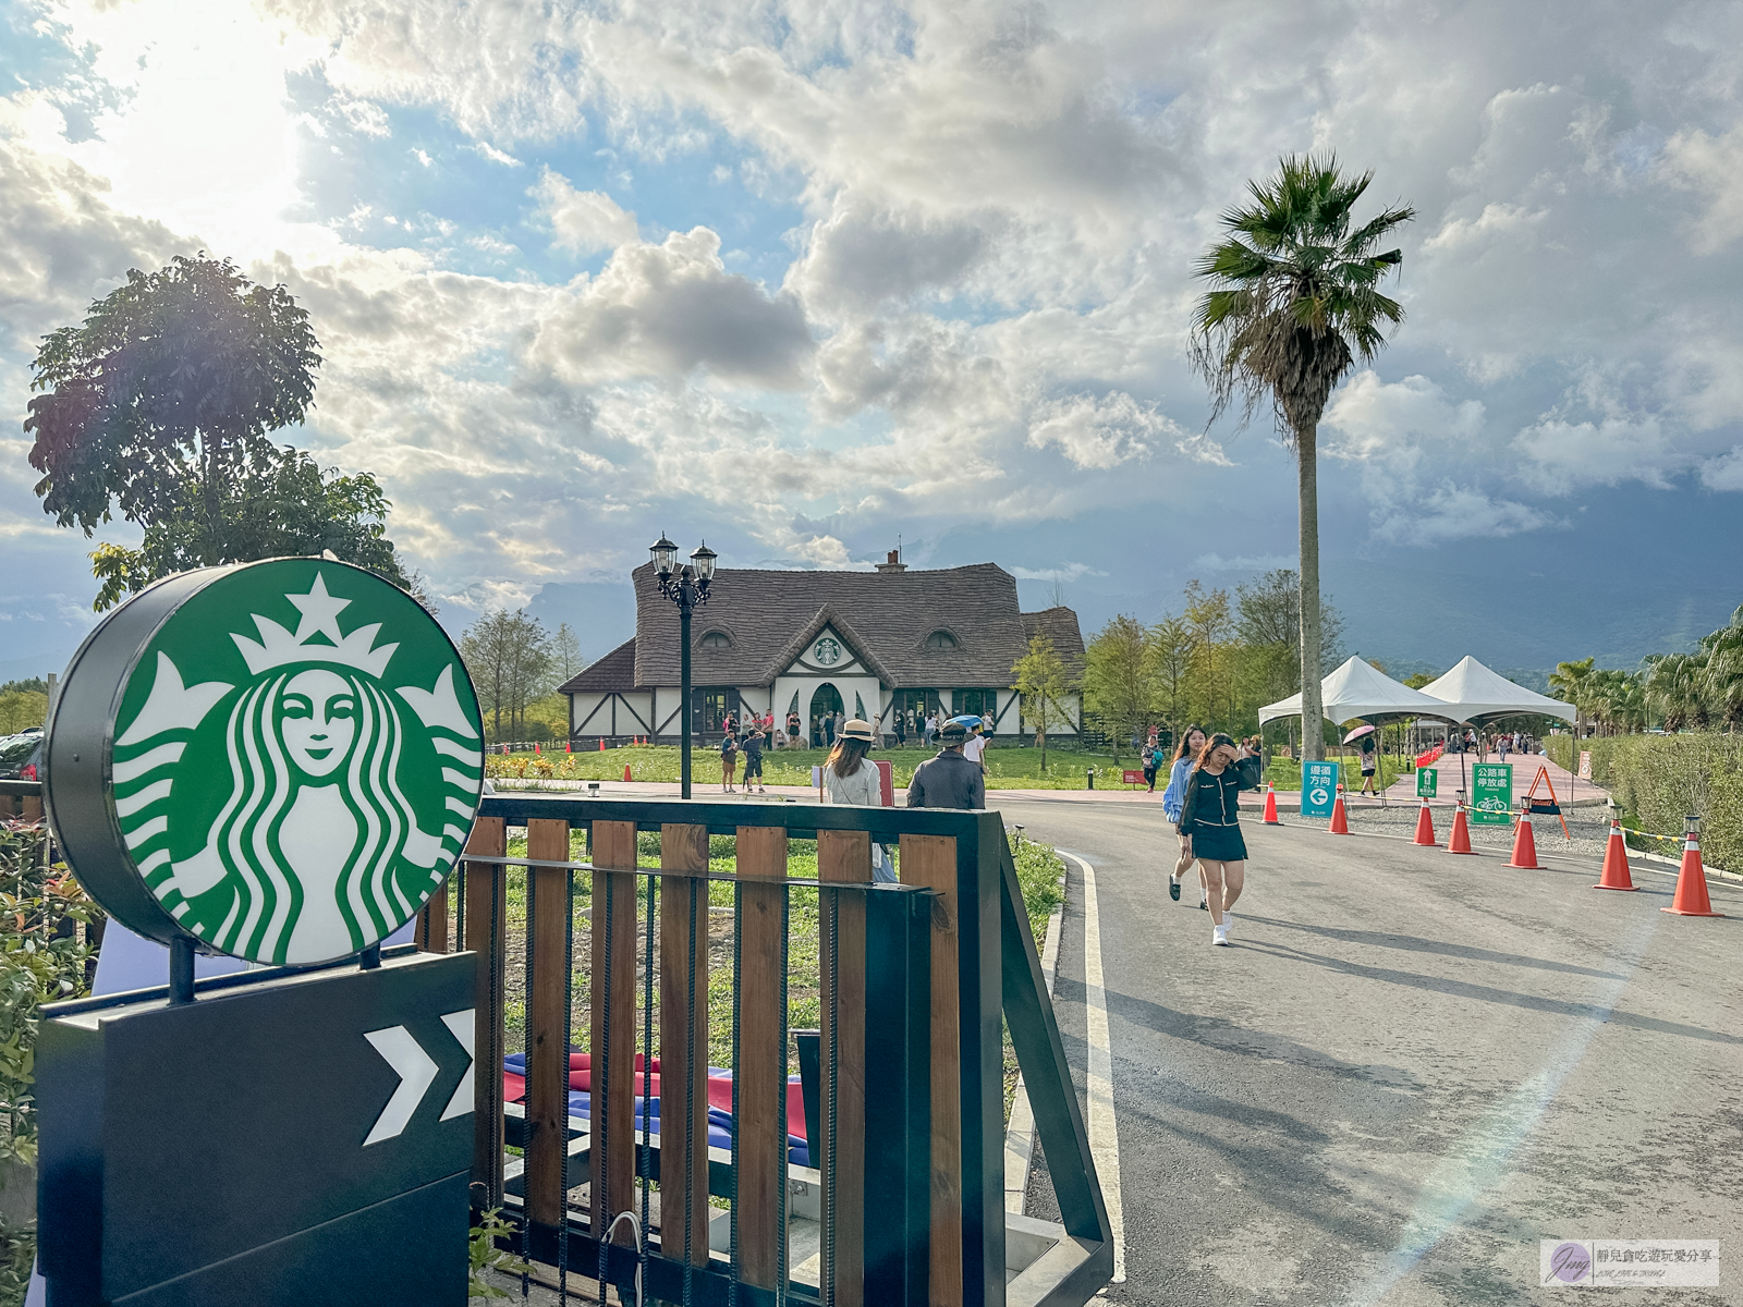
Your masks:
M1204 430L1185 331L1218 213L1297 150L1421 214L1408 322L1323 430L1356 643L1523 666L1626 627L1638 657L1743 599L1734 3L0 23L0 666L70 652L94 589L31 493L35 343L199 249L309 308L326 364L289 437L382 477L455 622L619 579L661 530L737 566L899 535L1030 599L1058 575L1089 620L1290 565L1292 464Z

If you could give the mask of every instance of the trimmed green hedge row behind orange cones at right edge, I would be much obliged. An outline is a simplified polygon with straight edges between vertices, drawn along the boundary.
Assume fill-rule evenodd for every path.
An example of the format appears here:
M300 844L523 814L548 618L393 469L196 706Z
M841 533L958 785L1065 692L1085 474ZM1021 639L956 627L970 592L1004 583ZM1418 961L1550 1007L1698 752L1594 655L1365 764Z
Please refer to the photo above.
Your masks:
M1574 737L1550 735L1550 756L1572 770ZM1701 817L1701 852L1715 866L1743 870L1743 735L1607 735L1591 749L1591 779L1640 819L1640 828L1682 835Z

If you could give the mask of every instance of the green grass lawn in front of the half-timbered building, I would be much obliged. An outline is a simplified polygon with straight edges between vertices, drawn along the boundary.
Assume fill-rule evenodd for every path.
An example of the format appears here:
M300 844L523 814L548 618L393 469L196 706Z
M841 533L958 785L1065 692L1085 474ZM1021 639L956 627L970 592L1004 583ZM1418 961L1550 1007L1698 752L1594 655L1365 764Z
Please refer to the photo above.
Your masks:
M938 749L873 749L873 758L885 758L896 774L896 788L906 789L913 769ZM810 769L819 765L824 749L770 749L763 753L763 775L772 786L809 786ZM694 749L692 775L695 784L720 784L720 755L715 749ZM678 749L668 744L629 744L619 749L586 753L511 753L485 758L485 772L493 777L554 779L554 781L622 781L624 767L634 781L676 781ZM1095 770L1096 788L1117 788L1121 772L1138 770L1135 756L1117 763L1107 753L1077 749L1048 749L1048 770L1041 770L1041 749L992 744L987 749L988 789L1086 789ZM739 772L744 772L743 760Z

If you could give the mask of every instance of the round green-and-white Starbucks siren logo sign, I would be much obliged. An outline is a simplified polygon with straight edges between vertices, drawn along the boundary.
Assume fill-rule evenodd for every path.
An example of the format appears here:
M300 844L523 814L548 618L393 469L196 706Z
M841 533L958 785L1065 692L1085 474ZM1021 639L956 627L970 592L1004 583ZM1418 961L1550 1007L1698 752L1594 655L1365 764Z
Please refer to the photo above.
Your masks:
M268 965L397 931L453 870L483 789L453 643L347 563L167 577L73 655L49 735L49 817L124 925Z

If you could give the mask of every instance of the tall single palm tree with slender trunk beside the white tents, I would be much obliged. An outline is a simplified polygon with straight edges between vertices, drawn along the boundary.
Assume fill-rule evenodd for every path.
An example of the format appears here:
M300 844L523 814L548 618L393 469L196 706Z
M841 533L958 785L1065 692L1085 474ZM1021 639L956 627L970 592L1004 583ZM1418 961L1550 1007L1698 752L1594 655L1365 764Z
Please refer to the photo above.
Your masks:
M1210 383L1211 422L1241 392L1241 420L1269 399L1283 446L1295 453L1300 497L1302 756L1325 758L1319 709L1319 416L1337 383L1386 347L1405 317L1379 293L1403 253L1375 247L1415 209L1386 209L1351 230L1373 173L1347 176L1335 155L1288 155L1253 202L1229 209L1229 235L1199 260L1211 289L1192 314L1192 366Z

